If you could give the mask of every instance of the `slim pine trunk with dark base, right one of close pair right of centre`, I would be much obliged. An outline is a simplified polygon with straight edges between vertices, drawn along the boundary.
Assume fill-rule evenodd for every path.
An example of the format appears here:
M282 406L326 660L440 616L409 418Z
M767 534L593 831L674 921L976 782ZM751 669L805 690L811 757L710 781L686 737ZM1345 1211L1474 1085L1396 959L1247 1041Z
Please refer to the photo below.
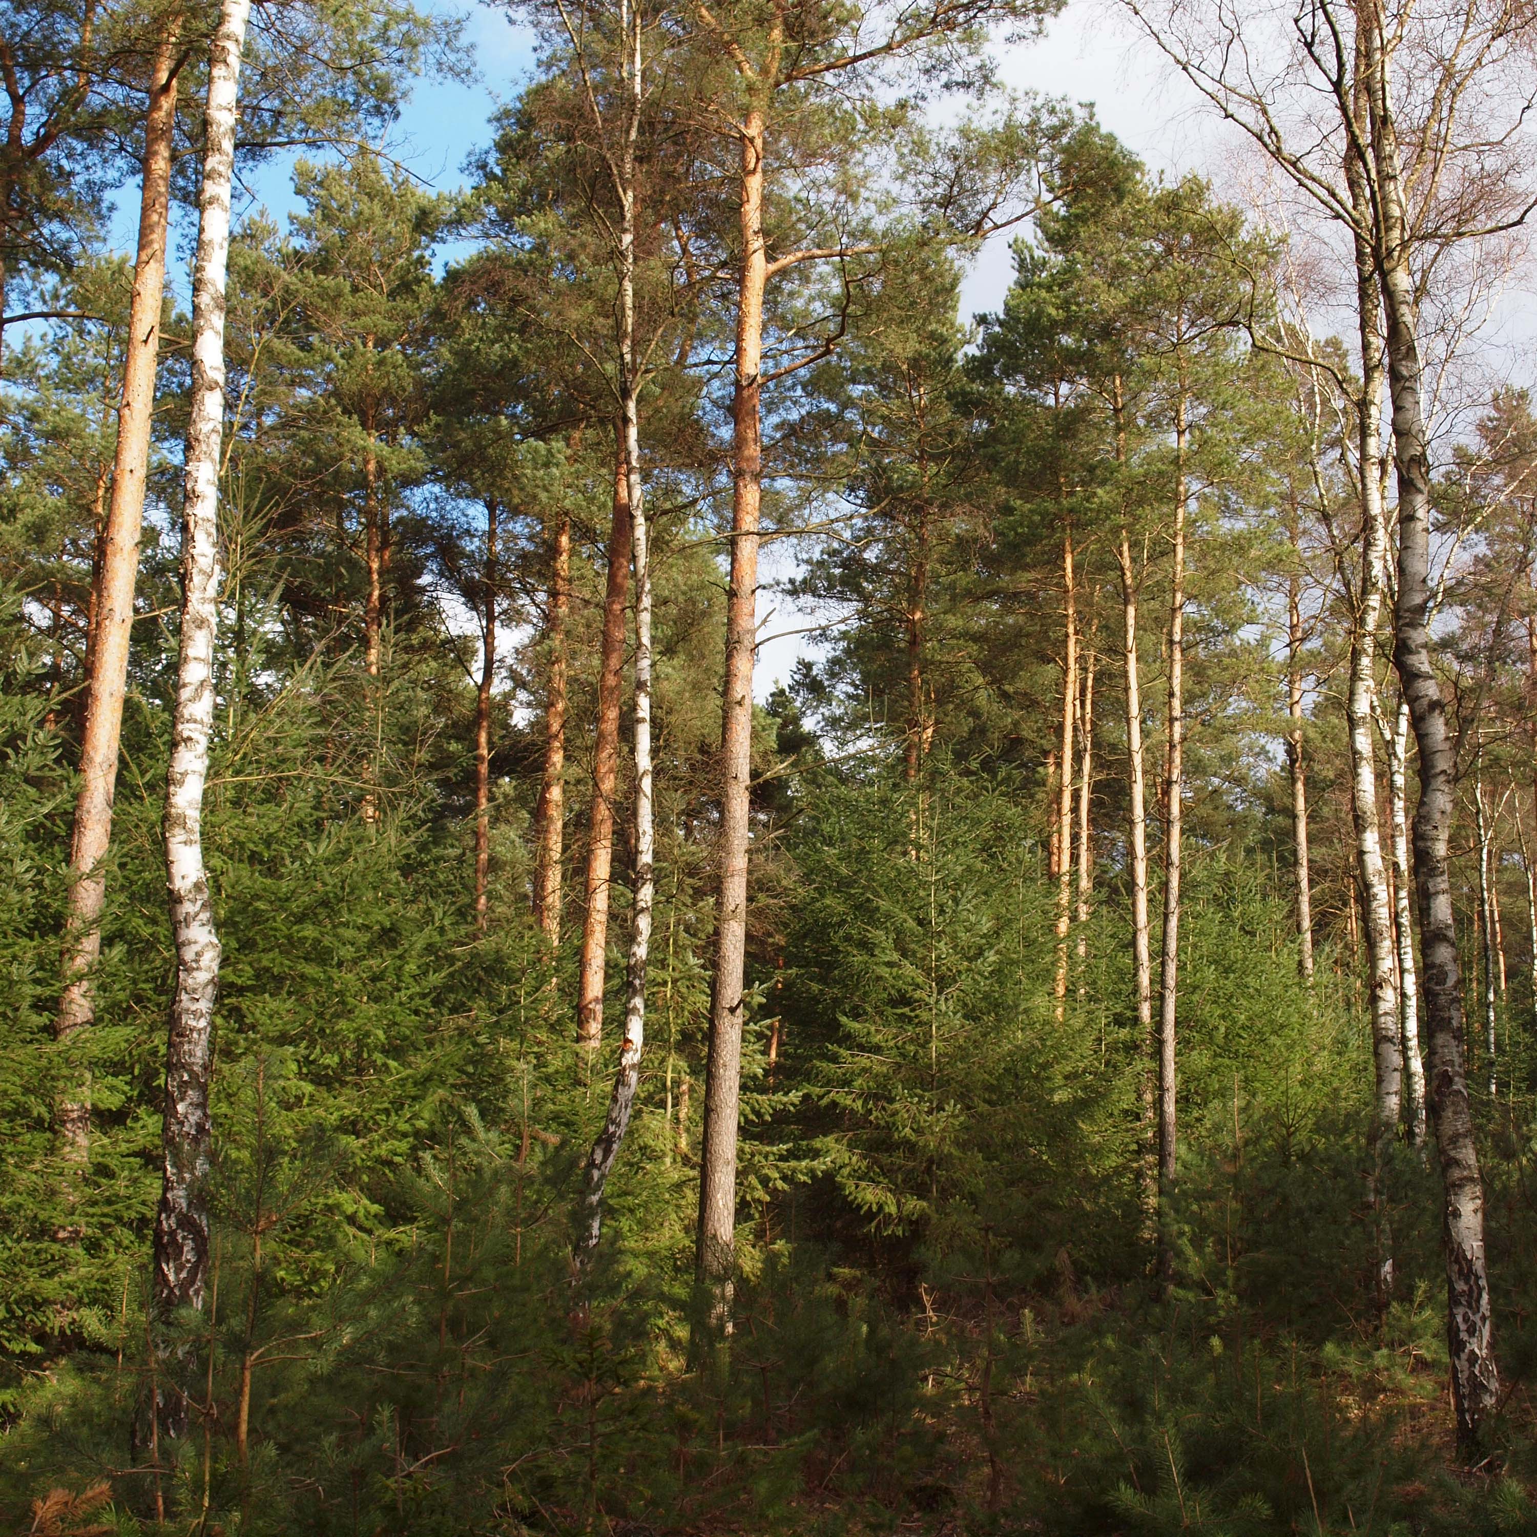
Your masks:
M1190 427L1185 392L1174 413L1174 559L1168 599L1168 744L1164 756L1164 945L1159 964L1157 1024L1157 1271L1165 1291L1174 1283L1173 1199L1177 1150L1174 1033L1179 1010L1179 878L1185 788L1185 516L1190 489L1185 452Z

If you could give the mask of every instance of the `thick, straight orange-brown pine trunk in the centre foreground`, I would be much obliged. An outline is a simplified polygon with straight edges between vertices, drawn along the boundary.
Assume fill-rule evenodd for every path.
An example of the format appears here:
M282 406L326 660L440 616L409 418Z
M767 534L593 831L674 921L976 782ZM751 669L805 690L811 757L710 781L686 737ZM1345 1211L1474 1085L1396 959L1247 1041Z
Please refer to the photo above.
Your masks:
M712 1322L730 1328L736 1259L736 1136L741 1113L742 987L747 965L747 842L753 750L753 646L758 607L758 516L762 496L759 418L764 287L764 112L753 101L741 132L741 272L732 403L732 578L721 693L721 884L715 905L715 982L704 1085L698 1274Z

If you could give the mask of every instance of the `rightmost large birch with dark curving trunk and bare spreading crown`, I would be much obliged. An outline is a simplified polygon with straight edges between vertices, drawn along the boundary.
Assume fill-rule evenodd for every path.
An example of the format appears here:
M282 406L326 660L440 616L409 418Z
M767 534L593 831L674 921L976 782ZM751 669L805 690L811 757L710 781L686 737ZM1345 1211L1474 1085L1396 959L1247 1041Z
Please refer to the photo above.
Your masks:
M1414 879L1428 1097L1445 1191L1446 1326L1457 1437L1474 1448L1500 1389L1448 862L1456 742L1428 624L1434 570L1420 323L1426 297L1456 283L1459 247L1499 237L1532 206L1529 18L1482 3L1432 15L1413 0L1391 9L1380 0L1319 0L1291 15L1128 5L1305 204L1353 251L1360 243L1382 306L1399 510L1394 666L1420 765ZM1360 315L1363 327L1376 320Z

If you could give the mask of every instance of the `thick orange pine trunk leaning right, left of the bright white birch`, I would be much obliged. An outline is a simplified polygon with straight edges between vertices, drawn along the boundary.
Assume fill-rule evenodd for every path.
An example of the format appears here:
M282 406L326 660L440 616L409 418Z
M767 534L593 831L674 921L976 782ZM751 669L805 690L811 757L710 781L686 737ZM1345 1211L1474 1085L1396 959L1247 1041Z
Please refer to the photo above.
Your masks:
M101 573L97 583L91 675L86 679L86 725L80 745L80 792L69 848L69 910L65 924L65 990L54 1033L68 1041L95 1021L94 968L101 954L101 908L106 859L112 841L118 739L128 692L129 632L138 575L138 536L144 520L144 478L155 406L160 354L160 307L166 284L166 227L171 209L171 160L175 141L177 77L181 18L161 23L149 72L144 115L143 188L138 204L138 252L128 310L123 398L117 415L112 496L108 504ZM91 1140L89 1087L77 1084L58 1105L58 1133L75 1162Z

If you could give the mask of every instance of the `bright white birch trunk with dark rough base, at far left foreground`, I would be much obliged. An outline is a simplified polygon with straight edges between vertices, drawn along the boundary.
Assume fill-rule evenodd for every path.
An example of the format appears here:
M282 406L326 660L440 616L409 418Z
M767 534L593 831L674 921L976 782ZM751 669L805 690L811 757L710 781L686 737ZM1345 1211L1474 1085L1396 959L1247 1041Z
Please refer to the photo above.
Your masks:
M203 188L192 275L192 398L181 533L181 655L166 781L166 884L177 981L166 1042L163 1177L155 1213L154 1296L161 1317L203 1306L209 1262L209 1085L218 933L203 864L203 787L214 730L218 630L218 467L224 430L224 283L235 169L235 97L251 0L223 0L209 54ZM177 1434L183 1416L166 1428Z

